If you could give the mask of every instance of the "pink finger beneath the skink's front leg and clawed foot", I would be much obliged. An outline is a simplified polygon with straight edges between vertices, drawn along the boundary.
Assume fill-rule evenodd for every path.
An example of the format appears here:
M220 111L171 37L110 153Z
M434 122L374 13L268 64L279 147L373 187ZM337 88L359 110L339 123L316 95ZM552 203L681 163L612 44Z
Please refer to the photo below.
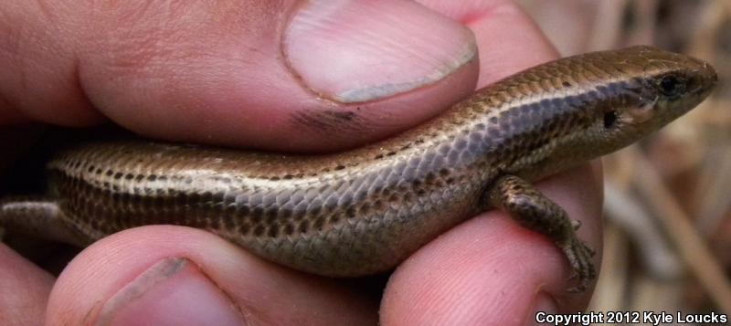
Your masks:
M540 188L582 221L579 237L599 248L595 217L601 213L600 189L582 188L594 174L586 166L546 180ZM599 261L600 254L594 264ZM550 240L493 211L453 228L397 268L384 294L381 321L527 324L535 322L537 311L583 311L591 291L567 292L575 285L570 274L567 259Z

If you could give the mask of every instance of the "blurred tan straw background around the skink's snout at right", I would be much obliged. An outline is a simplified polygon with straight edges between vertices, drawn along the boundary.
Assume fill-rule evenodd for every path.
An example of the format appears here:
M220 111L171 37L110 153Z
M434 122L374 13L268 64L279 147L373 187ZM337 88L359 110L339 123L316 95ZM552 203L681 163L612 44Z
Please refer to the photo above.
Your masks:
M605 158L604 260L588 310L731 316L731 1L518 2L562 56L652 44L716 68L709 100Z

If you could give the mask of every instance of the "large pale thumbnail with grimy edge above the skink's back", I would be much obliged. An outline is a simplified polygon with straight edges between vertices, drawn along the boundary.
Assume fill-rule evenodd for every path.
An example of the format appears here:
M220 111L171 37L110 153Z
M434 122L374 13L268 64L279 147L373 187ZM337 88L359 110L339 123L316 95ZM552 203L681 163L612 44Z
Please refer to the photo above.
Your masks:
M418 89L477 58L467 27L410 1L308 1L282 45L304 87L344 103Z

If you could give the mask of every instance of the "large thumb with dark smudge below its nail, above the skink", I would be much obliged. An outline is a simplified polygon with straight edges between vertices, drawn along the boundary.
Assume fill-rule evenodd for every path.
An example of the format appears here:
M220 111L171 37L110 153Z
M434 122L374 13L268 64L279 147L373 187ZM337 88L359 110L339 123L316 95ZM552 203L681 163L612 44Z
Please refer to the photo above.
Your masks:
M11 109L89 124L93 106L155 138L326 151L408 129L477 79L470 30L412 2L90 3L0 7Z

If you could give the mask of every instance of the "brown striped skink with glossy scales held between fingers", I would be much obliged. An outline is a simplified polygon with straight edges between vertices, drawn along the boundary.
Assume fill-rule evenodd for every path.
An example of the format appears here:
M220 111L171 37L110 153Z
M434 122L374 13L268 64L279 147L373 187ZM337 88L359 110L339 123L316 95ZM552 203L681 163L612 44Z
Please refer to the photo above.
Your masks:
M495 207L555 241L581 290L593 252L531 183L638 141L715 83L704 61L629 47L529 68L347 152L79 144L48 163L47 195L0 201L0 223L79 245L133 226L195 226L291 268L355 277Z

